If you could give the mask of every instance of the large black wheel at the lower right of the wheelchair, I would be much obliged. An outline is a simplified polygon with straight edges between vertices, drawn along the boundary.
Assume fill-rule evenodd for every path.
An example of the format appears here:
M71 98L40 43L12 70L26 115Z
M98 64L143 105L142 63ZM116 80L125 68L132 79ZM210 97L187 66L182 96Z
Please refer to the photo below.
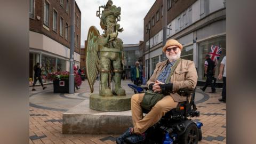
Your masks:
M181 137L182 144L197 144L198 143L198 128L196 124L191 123L188 125L187 130Z

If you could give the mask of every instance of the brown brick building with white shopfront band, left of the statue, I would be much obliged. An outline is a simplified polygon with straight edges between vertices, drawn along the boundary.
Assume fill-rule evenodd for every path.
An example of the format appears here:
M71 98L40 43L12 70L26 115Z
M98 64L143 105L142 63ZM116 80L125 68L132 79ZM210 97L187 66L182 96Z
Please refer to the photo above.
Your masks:
M41 63L43 82L54 71L69 71L71 2L69 0L29 1L29 77ZM81 11L75 3L75 65L80 63Z

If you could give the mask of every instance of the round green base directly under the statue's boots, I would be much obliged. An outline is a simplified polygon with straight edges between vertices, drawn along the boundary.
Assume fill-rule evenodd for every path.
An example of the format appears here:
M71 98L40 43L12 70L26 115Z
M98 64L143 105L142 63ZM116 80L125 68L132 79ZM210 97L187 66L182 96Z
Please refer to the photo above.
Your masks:
M131 110L131 96L102 97L99 94L90 95L90 108L99 111Z

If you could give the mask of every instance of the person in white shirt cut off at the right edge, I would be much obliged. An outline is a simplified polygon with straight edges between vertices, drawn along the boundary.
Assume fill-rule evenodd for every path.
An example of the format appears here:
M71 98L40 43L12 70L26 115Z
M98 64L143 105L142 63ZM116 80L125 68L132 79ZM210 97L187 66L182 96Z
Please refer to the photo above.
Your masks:
M220 64L220 72L219 72L219 79L223 79L223 89L221 93L221 98L219 101L226 102L226 56L222 59Z

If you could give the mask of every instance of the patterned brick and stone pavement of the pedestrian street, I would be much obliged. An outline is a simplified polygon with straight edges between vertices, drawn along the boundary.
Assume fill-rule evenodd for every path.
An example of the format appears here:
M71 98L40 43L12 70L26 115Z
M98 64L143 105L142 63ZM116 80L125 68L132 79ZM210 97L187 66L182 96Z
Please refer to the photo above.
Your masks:
M131 81L122 81L126 93L133 93L127 86L129 83ZM95 83L95 91L97 86L98 82ZM193 119L204 124L203 140L199 143L226 143L226 103L218 101L221 89L212 94L208 93L210 88L205 93L198 88L196 106L201 116ZM90 88L86 81L75 94L54 94L52 85L47 85L46 90L42 87L36 89L31 91L30 87L29 143L115 143L118 135L62 134L63 112L89 99Z

